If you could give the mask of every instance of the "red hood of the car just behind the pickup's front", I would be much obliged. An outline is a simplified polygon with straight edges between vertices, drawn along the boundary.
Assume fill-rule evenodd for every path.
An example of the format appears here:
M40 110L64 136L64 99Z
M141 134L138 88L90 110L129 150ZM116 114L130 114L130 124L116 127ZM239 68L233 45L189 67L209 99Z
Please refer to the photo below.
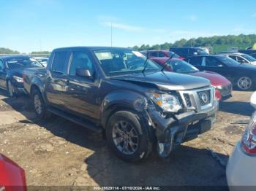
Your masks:
M214 85L214 86L229 85L231 83L227 78L212 71L198 71L194 73L189 73L189 75L192 75L195 77L204 77L206 79L209 79L211 81L211 85Z

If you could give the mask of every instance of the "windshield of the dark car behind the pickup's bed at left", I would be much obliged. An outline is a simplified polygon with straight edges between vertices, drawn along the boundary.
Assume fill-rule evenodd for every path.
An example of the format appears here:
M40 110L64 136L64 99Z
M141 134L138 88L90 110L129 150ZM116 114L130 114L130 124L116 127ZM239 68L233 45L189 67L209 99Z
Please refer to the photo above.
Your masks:
M42 68L42 64L31 58L12 58L7 60L6 63L8 69Z

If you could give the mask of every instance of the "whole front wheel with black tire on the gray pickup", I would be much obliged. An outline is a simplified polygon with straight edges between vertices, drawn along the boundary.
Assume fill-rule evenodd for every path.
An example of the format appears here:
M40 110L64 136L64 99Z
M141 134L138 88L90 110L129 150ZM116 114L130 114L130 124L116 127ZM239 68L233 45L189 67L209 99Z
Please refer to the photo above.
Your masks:
M114 113L106 127L108 145L122 160L138 162L151 152L149 133L138 115L128 111Z

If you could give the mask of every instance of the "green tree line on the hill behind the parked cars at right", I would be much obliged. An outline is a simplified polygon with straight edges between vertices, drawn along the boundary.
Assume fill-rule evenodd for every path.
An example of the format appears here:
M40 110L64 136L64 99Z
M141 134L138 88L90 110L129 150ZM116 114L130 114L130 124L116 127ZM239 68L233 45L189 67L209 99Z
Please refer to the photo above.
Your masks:
M198 37L197 39L180 39L174 43L165 42L164 44L132 47L133 50L169 50L170 47L212 47L214 52L225 51L230 47L244 49L252 47L256 43L256 34L240 34L227 36Z

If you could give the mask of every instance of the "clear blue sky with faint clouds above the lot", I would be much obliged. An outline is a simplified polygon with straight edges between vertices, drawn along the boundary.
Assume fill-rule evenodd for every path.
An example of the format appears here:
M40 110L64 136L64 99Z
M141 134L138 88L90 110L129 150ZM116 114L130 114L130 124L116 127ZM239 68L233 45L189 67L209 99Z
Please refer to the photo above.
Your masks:
M0 0L0 15L0 47L19 52L256 34L255 0Z

